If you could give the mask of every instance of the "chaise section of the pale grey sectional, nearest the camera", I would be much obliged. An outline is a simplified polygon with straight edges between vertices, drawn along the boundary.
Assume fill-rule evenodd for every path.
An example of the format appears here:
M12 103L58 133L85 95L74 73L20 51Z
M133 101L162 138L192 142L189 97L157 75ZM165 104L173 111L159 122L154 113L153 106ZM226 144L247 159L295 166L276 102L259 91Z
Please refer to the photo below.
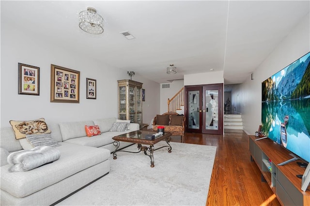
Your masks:
M8 172L8 164L1 167L1 205L33 205L34 199L35 205L51 205L109 173L109 150L64 142L60 144L57 149L61 157L50 164L13 173ZM62 185L57 187L61 190L57 191L61 196L51 195L56 184Z

